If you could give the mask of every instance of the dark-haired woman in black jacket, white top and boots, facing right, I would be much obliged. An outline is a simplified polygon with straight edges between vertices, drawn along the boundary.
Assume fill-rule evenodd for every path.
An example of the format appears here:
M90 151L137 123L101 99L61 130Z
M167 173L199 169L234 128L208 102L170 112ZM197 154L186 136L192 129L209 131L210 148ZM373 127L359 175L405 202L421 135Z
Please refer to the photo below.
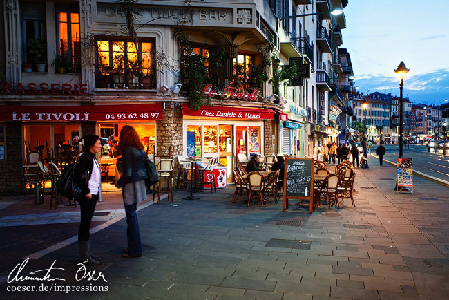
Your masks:
M102 140L98 135L86 135L82 139L82 144L84 153L79 156L78 163L73 170L73 180L85 195L82 200L79 200L81 221L78 230L78 250L82 262L87 261L86 265L99 265L99 256L90 251L89 229L99 198L99 185L102 182L97 158L95 158L95 154L102 151Z

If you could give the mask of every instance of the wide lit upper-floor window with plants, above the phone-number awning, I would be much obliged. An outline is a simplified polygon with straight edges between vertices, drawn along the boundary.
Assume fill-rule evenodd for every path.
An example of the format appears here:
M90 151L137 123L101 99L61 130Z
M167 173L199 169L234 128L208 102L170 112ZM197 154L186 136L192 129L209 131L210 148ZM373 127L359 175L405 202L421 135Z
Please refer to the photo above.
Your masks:
M137 47L136 47L137 46ZM155 43L97 40L97 88L156 88Z

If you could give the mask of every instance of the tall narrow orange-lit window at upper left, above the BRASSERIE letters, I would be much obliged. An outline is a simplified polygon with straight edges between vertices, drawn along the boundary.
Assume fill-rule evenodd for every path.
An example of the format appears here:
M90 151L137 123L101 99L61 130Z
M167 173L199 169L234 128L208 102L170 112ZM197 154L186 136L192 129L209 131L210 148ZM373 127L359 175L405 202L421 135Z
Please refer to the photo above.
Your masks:
M73 11L75 8L73 9ZM79 44L79 13L70 10L59 10L57 21L57 55L64 57L71 66L65 68L70 72L81 71L81 46Z

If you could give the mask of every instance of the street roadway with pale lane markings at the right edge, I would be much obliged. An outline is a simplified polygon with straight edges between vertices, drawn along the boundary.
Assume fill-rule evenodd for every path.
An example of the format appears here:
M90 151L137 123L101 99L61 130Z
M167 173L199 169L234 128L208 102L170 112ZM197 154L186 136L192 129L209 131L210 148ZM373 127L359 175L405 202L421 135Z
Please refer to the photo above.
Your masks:
M376 154L377 145L373 145L371 151ZM385 145L384 159L396 162L399 153L398 144ZM449 149L446 150L446 156L442 155L442 151L428 152L426 146L421 144L410 144L410 148L403 147L403 157L413 158L413 169L421 171L430 176L440 178L449 182ZM377 162L375 162L377 163Z

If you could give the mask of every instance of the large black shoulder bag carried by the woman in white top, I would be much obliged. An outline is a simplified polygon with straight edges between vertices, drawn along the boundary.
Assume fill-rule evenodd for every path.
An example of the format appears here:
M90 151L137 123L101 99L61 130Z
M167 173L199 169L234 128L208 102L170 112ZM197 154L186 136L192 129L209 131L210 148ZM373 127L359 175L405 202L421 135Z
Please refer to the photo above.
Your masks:
M70 164L64 168L64 171L62 171L61 176L59 176L57 180L56 189L62 196L65 196L70 200L76 200L79 202L84 198L85 195L83 191L78 187L74 179L74 172L78 164L79 158L76 162L73 162L73 164ZM88 168L82 175L82 178L84 182L86 182L86 184L88 184L89 182L90 172L90 168Z

